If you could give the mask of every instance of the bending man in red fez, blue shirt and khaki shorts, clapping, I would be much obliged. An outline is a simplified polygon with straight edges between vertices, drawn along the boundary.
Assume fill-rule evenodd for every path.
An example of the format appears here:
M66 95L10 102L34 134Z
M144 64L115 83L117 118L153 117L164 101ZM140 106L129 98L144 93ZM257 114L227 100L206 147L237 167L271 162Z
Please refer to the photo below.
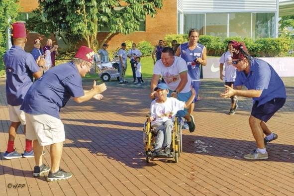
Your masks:
M84 91L82 77L93 65L95 52L86 46L81 46L75 57L69 63L51 68L37 80L26 94L21 109L27 119L27 137L33 142L35 152L35 167L33 176L50 170L42 162L42 152L50 145L51 171L47 181L65 180L72 177L70 172L60 169L60 160L65 141L65 132L59 111L73 97L77 103L91 98L103 98L100 93L106 90L105 84L96 85L90 91Z

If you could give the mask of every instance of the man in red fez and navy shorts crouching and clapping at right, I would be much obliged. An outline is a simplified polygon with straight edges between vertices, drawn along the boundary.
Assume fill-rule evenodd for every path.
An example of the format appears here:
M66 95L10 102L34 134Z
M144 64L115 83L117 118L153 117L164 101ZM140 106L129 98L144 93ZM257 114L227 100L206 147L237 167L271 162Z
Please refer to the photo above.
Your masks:
M283 107L286 101L284 83L270 64L261 59L252 58L244 43L234 41L231 49L232 63L237 68L237 77L234 88L225 85L226 90L220 96L253 98L249 125L257 149L245 155L244 159L268 159L265 145L277 139L278 135L270 131L266 122ZM242 85L245 85L248 90L241 90Z

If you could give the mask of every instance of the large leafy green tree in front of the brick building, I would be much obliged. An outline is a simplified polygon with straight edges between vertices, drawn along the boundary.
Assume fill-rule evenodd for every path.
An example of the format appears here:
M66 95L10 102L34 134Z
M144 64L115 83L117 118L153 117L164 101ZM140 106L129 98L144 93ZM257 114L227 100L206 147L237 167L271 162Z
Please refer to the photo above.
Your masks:
M115 33L128 34L139 30L140 20L145 20L146 15L154 17L163 6L162 1L39 0L40 11L35 13L46 22L45 29L62 32L68 40L84 38L89 47L97 50ZM40 25L42 23L36 23L30 30L44 34ZM99 27L109 28L104 39L97 38Z

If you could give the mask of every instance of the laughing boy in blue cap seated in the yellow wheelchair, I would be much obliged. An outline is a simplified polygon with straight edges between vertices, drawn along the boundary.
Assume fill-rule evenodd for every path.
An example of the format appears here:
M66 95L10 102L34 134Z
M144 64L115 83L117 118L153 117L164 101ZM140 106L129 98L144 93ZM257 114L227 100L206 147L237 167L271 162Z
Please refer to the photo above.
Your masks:
M169 88L165 83L159 83L154 91L156 91L157 98L151 103L150 117L147 119L148 122L151 122L152 128L157 132L155 150L152 156L169 157L171 155L170 145L175 116L178 111L190 106L196 92L191 88L192 95L187 102L184 102L176 98L168 98Z

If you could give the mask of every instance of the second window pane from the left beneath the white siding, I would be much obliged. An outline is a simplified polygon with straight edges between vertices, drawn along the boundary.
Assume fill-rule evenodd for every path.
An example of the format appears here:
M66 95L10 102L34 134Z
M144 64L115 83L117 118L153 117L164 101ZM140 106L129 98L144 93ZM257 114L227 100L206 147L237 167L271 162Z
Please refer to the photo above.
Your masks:
M206 13L206 35L227 37L227 13Z

